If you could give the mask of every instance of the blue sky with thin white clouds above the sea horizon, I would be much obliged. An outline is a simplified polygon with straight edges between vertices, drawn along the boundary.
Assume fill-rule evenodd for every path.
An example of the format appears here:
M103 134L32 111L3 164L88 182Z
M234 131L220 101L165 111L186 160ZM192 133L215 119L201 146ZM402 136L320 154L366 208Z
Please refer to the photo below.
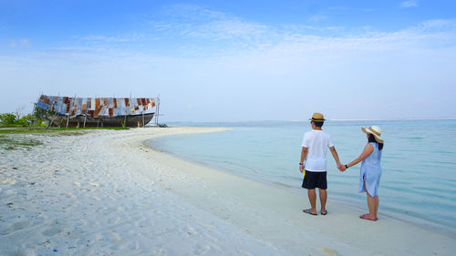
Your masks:
M455 1L2 1L0 112L161 96L164 121L456 117Z

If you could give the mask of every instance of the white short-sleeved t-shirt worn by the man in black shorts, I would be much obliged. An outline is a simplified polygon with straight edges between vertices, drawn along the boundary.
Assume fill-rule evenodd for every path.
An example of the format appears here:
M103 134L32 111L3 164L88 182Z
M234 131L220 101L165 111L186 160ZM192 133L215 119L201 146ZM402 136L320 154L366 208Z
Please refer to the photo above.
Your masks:
M326 171L327 148L333 147L331 136L323 130L310 130L304 134L303 147L307 148L305 169Z

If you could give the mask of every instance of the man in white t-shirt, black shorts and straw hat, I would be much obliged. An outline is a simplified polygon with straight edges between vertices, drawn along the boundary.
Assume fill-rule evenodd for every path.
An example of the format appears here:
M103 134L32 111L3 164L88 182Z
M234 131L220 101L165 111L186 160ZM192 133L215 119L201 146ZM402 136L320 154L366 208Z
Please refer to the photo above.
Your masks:
M316 188L318 188L322 215L326 215L326 153L327 148L331 151L333 158L336 160L337 167L340 167L339 157L336 148L329 134L324 132L321 127L325 122L325 118L321 113L314 113L310 124L312 130L304 134L301 161L299 162L299 170L304 172L304 179L302 187L308 189L307 195L309 197L310 209L303 210L304 212L316 215ZM304 161L306 160L306 163Z

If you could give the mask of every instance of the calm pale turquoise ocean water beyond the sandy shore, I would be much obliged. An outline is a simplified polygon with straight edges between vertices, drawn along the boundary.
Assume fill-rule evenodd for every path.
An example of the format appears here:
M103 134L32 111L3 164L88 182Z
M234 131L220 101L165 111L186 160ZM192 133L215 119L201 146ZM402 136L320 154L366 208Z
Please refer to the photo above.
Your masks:
M232 128L229 131L155 138L146 143L214 169L303 194L298 162L309 122L171 123L171 126ZM456 230L456 119L326 121L323 129L342 163L358 158L367 138L361 127L382 128L385 146L378 196L379 212ZM337 170L328 151L329 200L367 210L358 193L358 164ZM330 207L330 205L328 206Z

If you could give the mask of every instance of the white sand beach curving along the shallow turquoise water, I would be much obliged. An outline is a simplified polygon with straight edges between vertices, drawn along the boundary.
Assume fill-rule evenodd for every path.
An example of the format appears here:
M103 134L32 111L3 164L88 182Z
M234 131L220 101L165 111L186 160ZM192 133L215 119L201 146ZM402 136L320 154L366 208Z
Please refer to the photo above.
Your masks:
M0 255L454 255L451 232L381 209L378 221L360 220L331 193L328 214L311 216L305 194L143 144L223 130L15 135L44 145L0 149Z

